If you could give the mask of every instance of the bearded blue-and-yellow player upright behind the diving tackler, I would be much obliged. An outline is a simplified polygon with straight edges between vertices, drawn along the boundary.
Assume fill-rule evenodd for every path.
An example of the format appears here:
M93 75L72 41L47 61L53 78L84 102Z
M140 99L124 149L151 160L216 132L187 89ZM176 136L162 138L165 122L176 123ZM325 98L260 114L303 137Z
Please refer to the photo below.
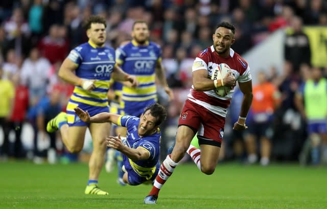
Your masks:
M167 85L165 69L161 64L161 48L149 41L149 28L145 21L135 21L132 28L132 41L116 49L116 63L124 72L134 75L139 82L137 88L124 85L122 107L126 115L139 117L144 108L155 103L157 82L165 89L169 99L173 92Z

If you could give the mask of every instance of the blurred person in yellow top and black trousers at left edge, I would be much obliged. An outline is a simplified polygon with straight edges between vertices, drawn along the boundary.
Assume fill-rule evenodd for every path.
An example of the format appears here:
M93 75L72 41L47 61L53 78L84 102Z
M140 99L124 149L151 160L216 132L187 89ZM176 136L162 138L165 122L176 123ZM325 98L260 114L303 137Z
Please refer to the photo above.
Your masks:
M0 126L4 132L4 143L0 156L7 159L9 153L9 120L12 114L15 97L14 85L11 81L3 79L3 68L0 66Z

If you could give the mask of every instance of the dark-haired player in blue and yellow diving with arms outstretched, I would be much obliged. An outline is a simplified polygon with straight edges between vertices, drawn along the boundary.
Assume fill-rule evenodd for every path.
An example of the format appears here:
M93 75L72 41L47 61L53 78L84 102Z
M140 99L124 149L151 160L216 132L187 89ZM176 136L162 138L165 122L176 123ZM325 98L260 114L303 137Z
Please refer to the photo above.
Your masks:
M121 136L109 136L108 147L123 153L125 173L123 181L130 185L152 182L159 171L159 146L161 133L159 125L166 120L167 111L161 105L154 103L145 108L141 118L108 112L90 117L87 111L75 108L76 114L86 123L111 122L127 127L127 139Z

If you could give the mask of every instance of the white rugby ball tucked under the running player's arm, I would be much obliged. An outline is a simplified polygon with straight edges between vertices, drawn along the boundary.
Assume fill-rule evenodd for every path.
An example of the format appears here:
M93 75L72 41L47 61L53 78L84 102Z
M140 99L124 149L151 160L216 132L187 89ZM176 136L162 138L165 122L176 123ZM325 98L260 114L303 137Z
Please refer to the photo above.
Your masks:
M230 67L225 64L225 63L221 63L219 65L217 65L217 67L215 67L213 74L211 76L212 80L221 80L223 78L225 78L225 76L230 72ZM228 92L231 90L230 87L227 86L220 86L218 88L215 89L215 93L219 96L219 97L225 97Z

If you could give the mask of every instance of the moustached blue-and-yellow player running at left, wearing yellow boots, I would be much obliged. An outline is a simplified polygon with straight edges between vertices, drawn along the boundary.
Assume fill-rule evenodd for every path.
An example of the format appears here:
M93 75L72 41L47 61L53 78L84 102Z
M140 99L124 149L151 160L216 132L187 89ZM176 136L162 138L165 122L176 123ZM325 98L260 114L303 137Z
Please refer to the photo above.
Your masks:
M106 20L100 16L90 16L84 23L87 43L73 49L59 69L59 77L74 84L74 92L67 104L67 113L61 112L46 126L48 132L60 130L62 141L69 152L78 153L84 145L88 127L93 140L93 151L89 160L89 180L85 194L107 195L98 187L106 152L105 140L110 134L110 123L88 124L81 121L74 108L80 107L90 115L108 112L107 91L109 80L128 81L137 86L134 76L126 74L115 65L115 53L105 46ZM75 73L74 73L75 72Z

